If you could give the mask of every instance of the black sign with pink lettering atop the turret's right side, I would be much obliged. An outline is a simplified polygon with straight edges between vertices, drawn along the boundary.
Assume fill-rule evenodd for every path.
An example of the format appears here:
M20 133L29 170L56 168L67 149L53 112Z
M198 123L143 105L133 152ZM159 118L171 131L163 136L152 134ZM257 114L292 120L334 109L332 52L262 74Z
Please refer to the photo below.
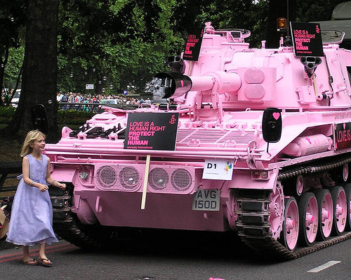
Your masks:
M324 56L319 23L290 23L295 56Z

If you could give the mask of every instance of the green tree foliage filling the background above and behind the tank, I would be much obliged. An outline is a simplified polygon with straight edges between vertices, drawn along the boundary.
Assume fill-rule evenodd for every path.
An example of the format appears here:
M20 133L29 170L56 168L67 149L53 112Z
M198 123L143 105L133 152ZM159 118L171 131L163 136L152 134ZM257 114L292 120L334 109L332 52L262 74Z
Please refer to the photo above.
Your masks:
M343 0L291 0L297 21L329 20ZM22 64L20 46L25 6L5 0L0 6L0 54L4 59L6 38L12 47L4 73L4 87L13 87ZM180 54L186 30L211 21L216 29L251 31L246 41L260 46L266 38L269 0L67 0L60 1L58 17L58 90L119 94L133 86L143 92L164 58ZM274 1L284 6L286 1ZM285 15L283 15L285 16ZM11 21L11 18L13 21ZM6 31L6 32L5 32ZM4 33L5 32L5 33ZM2 45L1 45L2 44ZM1 49L2 48L2 49ZM95 84L95 90L86 90Z

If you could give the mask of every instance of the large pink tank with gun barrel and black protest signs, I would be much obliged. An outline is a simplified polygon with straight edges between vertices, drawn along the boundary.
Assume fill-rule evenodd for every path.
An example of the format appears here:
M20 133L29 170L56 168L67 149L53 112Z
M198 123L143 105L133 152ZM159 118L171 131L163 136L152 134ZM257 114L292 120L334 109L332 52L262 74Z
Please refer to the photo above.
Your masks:
M106 106L46 146L68 186L51 189L62 238L91 248L143 228L234 231L291 258L351 237L351 51L250 49L249 35L206 23L197 61L185 59L195 36L147 85L168 103Z

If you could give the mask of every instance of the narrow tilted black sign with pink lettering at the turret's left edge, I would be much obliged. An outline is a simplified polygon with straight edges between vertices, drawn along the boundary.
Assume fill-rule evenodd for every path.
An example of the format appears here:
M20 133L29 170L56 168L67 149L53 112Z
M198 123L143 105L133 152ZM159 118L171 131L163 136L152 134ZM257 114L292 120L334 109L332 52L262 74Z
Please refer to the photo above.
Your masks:
M198 61L201 49L202 37L204 36L204 29L200 27L193 27L187 33L187 42L183 53L185 61Z

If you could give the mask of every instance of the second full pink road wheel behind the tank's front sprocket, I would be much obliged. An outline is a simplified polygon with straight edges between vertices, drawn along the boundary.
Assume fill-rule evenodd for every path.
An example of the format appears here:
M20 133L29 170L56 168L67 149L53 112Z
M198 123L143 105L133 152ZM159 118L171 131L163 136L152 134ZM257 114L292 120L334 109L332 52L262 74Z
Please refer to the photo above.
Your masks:
M316 240L318 229L318 205L313 193L307 192L298 201L300 233L298 241L303 246L311 246Z

